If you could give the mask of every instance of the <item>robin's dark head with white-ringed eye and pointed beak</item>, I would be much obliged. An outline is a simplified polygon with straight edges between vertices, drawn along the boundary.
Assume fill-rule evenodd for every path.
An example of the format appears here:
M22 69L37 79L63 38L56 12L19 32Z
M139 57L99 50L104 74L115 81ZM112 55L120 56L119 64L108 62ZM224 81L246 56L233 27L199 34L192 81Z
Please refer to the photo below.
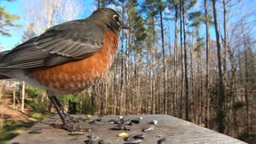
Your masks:
M95 10L94 13L90 15L90 19L94 20L94 22L99 25L110 27L117 34L121 29L129 29L129 27L123 23L120 15L110 8Z

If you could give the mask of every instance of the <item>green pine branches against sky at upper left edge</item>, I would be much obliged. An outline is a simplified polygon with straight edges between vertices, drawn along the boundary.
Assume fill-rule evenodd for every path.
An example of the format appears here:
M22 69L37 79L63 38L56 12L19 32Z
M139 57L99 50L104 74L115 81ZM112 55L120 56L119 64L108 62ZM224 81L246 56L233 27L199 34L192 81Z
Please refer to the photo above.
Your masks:
M6 12L5 7L0 6L0 34L10 37L10 27L20 26L18 24L14 24L14 21L18 19L18 15L10 14Z

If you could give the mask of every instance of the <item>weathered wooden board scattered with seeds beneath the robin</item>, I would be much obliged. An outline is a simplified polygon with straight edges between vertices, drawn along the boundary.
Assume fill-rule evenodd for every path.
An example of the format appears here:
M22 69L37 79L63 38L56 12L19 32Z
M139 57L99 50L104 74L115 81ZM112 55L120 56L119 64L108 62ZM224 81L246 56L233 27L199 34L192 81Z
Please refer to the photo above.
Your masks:
M85 115L79 115L75 117L83 117ZM142 117L142 120L138 124L133 126L126 126L130 130L110 130L110 128L116 126L110 121L110 119L117 119L118 116L103 116L102 122L96 122L95 124L89 124L89 121L79 122L79 125L86 128L90 128L90 132L85 132L83 135L70 135L70 132L61 129L55 129L50 126L50 123L58 123L56 119L58 116L50 117L35 126L30 130L26 130L24 134L18 135L18 137L12 139L8 143L19 142L21 144L34 144L34 143L85 143L84 141L90 134L96 134L100 139L105 139L110 143L125 143L122 137L117 137L118 134L125 132L130 135L145 134L145 138L141 143L245 143L238 139L231 138L224 134L219 134L213 130L206 129L202 126L194 125L191 122L186 122L179 118L174 118L164 114L154 115L128 115L124 116L124 119L138 119ZM98 116L92 116L90 119L94 120ZM150 126L149 122L158 120L158 124L155 125L155 129L150 132L142 132L142 129ZM78 124L78 123L76 123ZM29 134L31 130L42 129L40 134ZM165 140L161 142L160 139Z

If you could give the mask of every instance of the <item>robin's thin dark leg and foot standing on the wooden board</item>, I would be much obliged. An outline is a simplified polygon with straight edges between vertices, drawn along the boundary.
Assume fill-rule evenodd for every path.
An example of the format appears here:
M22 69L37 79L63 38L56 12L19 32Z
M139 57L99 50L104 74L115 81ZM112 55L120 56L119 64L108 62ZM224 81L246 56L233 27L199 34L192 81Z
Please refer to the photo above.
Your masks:
M72 125L70 125L69 122L66 121L65 114L62 114L62 110L61 110L60 106L58 106L59 102L56 101L57 98L55 98L55 96L48 96L48 97L50 98L50 101L54 104L54 107L57 110L58 115L62 119L62 122L63 122L63 124L61 126L54 125L54 127L66 129L68 131L77 131L79 129L78 126L72 126Z

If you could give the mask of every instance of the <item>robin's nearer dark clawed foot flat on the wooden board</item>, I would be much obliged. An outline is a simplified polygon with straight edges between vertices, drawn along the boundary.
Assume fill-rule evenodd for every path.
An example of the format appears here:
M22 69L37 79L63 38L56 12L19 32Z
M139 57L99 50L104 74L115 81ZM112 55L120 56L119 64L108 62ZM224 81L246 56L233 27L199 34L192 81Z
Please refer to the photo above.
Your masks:
M58 124L52 123L52 124L50 124L50 126L52 126L54 128L57 128L57 129L68 130L70 132L74 132L74 131L84 132L84 131L87 130L86 128L83 128L82 126L73 126L70 123L64 123L62 125L58 125Z

